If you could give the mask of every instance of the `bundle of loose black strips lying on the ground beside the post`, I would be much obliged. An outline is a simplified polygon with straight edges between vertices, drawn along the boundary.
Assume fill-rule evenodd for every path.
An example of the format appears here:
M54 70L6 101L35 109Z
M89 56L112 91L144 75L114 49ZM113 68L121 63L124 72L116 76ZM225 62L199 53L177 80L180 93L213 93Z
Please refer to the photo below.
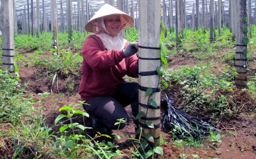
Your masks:
M208 136L210 131L219 131L213 124L204 122L195 116L185 114L183 111L175 108L173 104L174 100L165 94L161 101L161 106L167 107L163 114L163 131L170 132L179 127L180 131L172 131L177 137L184 138L185 136L193 136L196 139Z

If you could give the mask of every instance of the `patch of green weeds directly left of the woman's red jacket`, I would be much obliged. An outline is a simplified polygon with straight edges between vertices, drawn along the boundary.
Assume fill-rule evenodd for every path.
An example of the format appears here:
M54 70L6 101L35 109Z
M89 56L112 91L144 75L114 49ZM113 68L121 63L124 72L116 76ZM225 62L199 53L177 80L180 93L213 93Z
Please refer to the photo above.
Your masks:
M42 68L41 76L47 76L52 80L52 86L58 77L67 78L65 87L68 91L73 91L75 85L79 85L77 79L81 78L82 56L80 53L52 49L52 54L47 55L35 51L35 56L22 58L19 62L28 64L28 67Z

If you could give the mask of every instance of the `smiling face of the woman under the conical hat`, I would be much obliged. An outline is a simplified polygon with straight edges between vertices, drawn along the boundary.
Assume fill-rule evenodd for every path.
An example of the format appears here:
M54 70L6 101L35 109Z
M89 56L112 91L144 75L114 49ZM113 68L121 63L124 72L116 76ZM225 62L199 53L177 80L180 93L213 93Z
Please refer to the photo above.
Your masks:
M108 15L104 17L106 30L111 36L117 36L121 31L120 15Z

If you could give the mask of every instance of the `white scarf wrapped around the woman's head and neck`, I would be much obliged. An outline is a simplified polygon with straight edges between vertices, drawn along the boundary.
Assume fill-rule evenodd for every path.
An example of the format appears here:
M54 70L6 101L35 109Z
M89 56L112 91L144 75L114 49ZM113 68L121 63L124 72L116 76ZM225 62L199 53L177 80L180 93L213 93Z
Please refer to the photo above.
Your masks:
M100 28L100 30L96 28L94 34L100 37L106 49L109 51L113 49L121 51L125 48L127 40L123 39L119 34L114 37L110 36L109 32L106 30L104 18L98 18L97 22L94 22L94 26Z

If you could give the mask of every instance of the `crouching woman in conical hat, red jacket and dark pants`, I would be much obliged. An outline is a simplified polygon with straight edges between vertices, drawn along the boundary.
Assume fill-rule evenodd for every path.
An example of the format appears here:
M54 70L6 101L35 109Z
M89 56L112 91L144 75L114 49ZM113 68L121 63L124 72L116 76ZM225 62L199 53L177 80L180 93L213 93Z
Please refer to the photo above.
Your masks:
M124 107L131 104L133 115L138 114L138 83L123 80L126 75L138 77L138 41L129 43L119 35L133 22L125 12L105 4L85 25L85 30L94 34L86 38L81 50L79 94L84 109L93 117L93 127L108 135L129 122ZM125 122L115 125L118 119Z

